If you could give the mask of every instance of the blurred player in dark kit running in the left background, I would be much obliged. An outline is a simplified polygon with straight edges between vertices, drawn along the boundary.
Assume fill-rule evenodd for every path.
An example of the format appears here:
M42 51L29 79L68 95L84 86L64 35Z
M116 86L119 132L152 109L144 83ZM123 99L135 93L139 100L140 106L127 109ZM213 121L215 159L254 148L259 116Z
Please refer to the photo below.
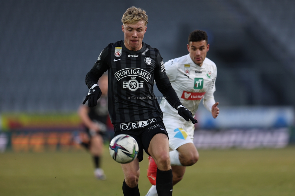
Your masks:
M82 139L81 145L86 147L91 153L94 161L94 175L97 179L105 180L106 176L101 168L101 157L103 154L104 139L108 138L108 76L103 75L99 80L99 86L102 95L97 100L97 105L93 108L89 108L86 105L81 104L78 109L78 114L85 126L86 133L89 140ZM87 103L88 104L88 103Z

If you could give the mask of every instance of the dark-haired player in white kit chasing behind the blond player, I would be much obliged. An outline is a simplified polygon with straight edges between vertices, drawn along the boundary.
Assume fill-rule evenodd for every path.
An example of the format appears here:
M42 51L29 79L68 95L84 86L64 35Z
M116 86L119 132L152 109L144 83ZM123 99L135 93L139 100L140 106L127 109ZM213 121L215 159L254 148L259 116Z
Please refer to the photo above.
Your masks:
M188 38L189 54L166 62L166 74L177 93L181 103L193 114L196 113L203 98L203 105L216 118L219 114L218 102L213 93L217 69L214 62L206 58L209 51L208 36L205 31L195 30ZM160 108L163 122L169 135L170 161L173 173L173 185L184 175L186 166L192 166L199 159L199 153L193 144L194 124L181 118L177 111L166 100L162 100ZM157 196L155 185L157 165L149 157L148 179L152 187L146 196Z

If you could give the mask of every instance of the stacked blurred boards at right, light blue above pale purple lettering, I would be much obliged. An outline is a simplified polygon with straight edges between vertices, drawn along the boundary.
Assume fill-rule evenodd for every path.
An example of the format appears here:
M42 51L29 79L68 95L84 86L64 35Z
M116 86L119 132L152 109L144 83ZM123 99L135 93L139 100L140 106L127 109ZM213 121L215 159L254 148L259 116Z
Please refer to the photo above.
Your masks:
M293 107L219 107L219 115L200 108L194 133L197 148L283 148L293 142Z

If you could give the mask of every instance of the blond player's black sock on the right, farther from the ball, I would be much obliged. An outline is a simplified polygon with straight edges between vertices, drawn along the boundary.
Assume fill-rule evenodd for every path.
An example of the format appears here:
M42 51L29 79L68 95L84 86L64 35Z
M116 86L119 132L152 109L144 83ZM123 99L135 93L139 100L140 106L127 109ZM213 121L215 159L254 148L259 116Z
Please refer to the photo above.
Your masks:
M168 171L162 171L157 169L156 189L159 196L172 195L172 177L172 169Z

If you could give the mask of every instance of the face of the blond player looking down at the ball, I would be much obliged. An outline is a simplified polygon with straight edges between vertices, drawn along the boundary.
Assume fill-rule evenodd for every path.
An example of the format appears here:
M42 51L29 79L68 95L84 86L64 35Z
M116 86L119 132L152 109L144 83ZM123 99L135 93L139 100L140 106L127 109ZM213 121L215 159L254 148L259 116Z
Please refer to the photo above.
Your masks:
M136 24L122 25L124 32L124 45L129 50L140 50L142 47L142 39L144 33L147 31L144 21L139 21Z

